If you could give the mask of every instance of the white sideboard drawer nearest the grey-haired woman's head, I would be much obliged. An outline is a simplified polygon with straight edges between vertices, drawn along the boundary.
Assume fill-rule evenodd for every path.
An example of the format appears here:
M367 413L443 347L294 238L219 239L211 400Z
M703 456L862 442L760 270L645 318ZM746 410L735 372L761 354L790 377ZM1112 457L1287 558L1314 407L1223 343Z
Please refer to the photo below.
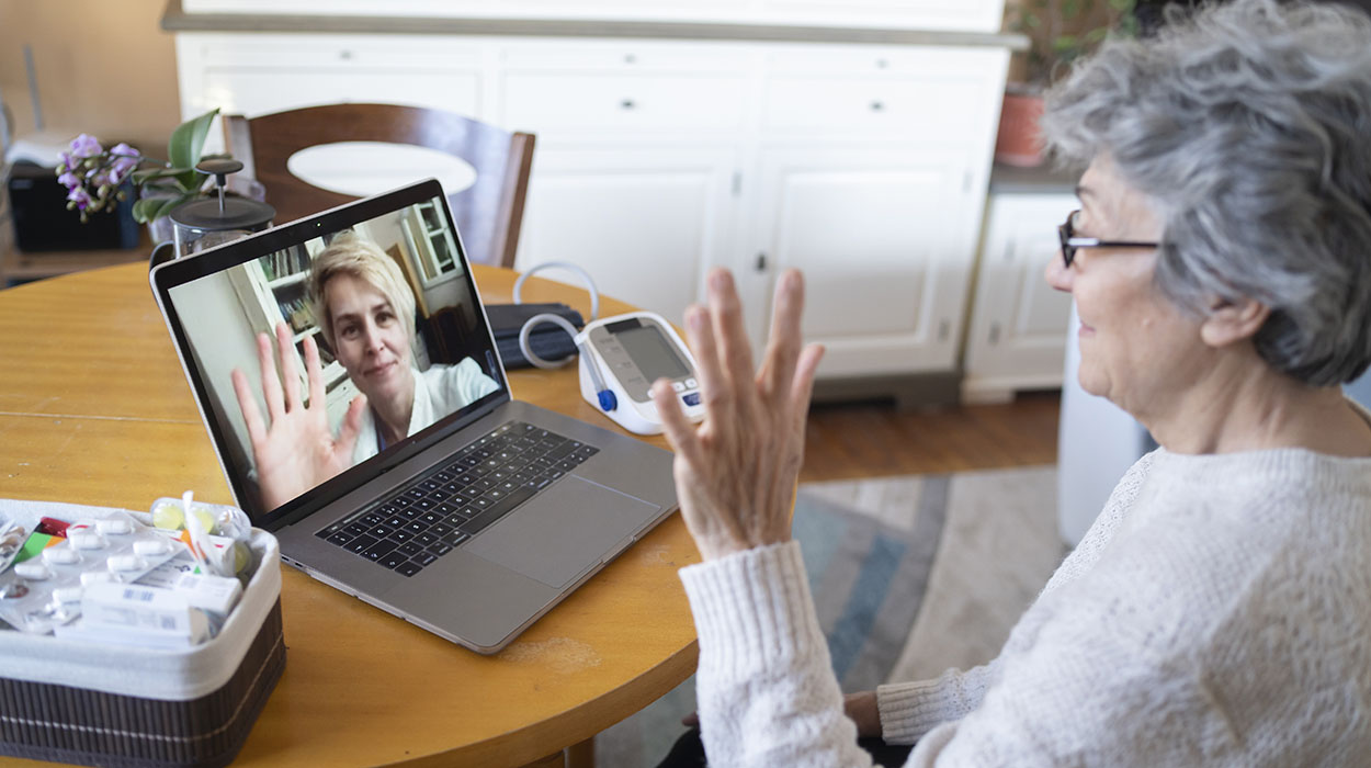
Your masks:
M762 119L775 130L864 130L946 141L988 119L976 81L776 77Z

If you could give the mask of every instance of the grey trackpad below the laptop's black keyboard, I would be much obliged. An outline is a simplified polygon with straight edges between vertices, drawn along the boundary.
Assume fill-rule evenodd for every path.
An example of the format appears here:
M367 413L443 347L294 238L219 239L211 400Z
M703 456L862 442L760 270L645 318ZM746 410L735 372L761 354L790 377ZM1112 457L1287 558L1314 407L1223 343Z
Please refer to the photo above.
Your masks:
M491 525L465 550L562 587L661 510L574 475Z

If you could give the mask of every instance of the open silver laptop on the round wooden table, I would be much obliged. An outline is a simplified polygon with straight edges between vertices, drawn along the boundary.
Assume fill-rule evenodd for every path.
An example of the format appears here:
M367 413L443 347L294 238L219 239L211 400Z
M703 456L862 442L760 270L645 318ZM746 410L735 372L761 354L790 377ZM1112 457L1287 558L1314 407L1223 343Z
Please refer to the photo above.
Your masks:
M351 292L329 288L332 318L315 317L311 267L359 243L399 267L383 270L396 276L389 292L356 278ZM670 453L513 399L437 181L163 263L151 281L234 499L278 538L281 560L436 635L498 651L676 510ZM404 314L389 304L406 291L413 331L388 315ZM258 466L233 387L237 372L270 425L256 344L267 333L277 352L280 324L293 359L274 363L293 363L302 405L317 407L311 339L329 432L354 431L350 410L358 425L343 469L299 492L298 475L282 491L282 464ZM403 421L393 391L407 380L399 436L387 425Z

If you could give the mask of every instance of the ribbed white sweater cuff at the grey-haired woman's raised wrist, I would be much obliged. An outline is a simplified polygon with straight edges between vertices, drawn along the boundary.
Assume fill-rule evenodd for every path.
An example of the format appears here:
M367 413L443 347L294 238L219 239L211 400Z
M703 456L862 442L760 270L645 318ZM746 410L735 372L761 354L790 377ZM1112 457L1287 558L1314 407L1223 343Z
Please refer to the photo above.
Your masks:
M702 667L710 664L716 673L736 679L812 653L827 657L798 542L688 565L680 579L695 616Z

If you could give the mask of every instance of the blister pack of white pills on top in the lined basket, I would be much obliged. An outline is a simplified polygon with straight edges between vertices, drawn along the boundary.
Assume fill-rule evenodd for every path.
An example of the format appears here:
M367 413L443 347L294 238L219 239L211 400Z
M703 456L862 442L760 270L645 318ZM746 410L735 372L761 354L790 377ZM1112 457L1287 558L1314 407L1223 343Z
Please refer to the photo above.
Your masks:
M0 575L0 619L34 634L81 614L82 587L133 583L185 551L185 544L129 514L78 520L38 557Z

